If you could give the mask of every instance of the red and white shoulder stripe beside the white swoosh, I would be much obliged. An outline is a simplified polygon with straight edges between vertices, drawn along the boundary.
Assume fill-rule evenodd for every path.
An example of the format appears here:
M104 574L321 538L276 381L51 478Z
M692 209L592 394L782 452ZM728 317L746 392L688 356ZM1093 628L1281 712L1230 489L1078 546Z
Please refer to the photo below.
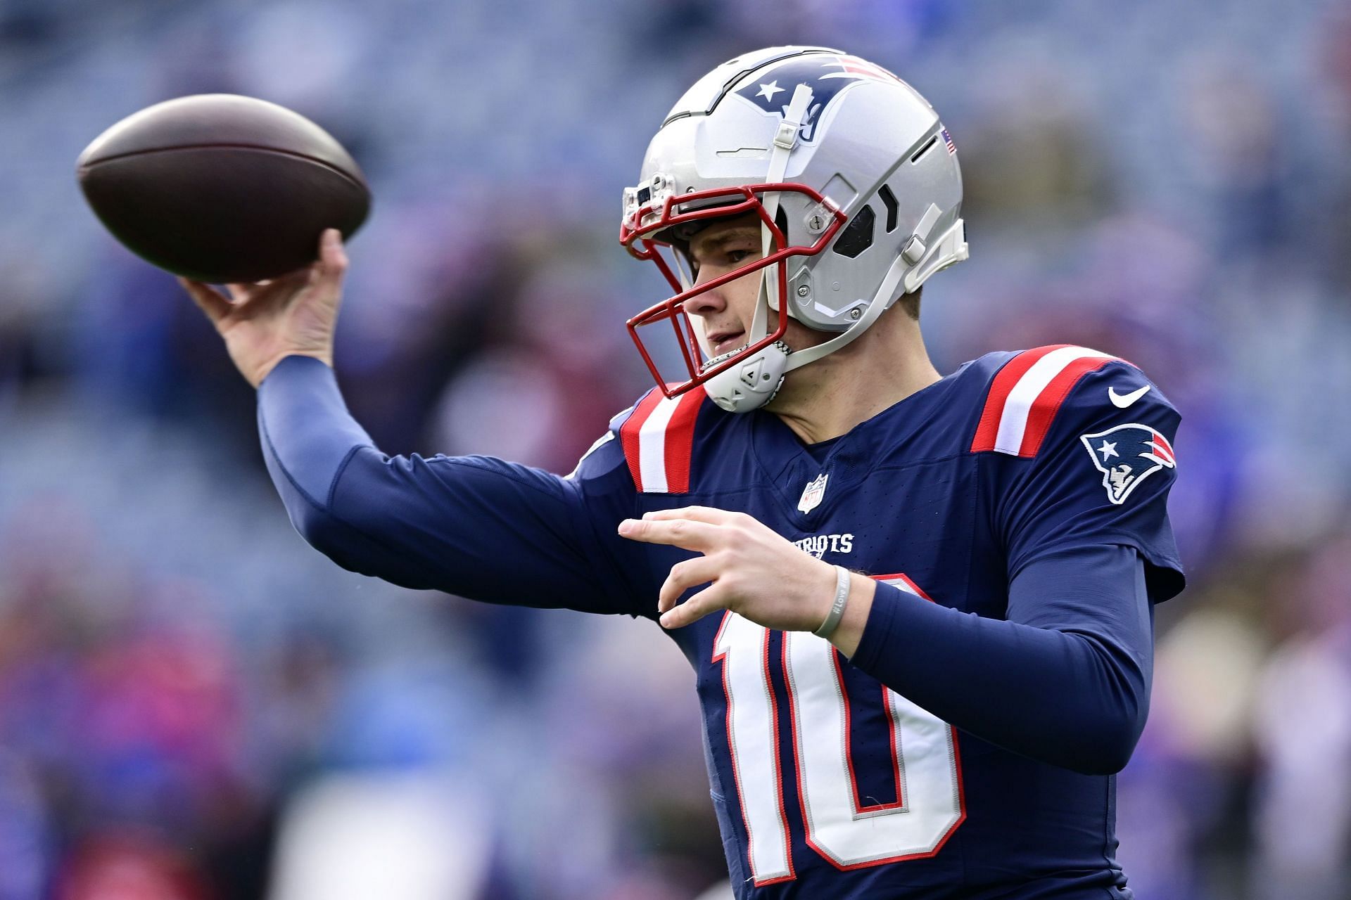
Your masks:
M1074 385L1119 359L1073 344L1036 347L1015 355L990 382L971 452L1036 456Z

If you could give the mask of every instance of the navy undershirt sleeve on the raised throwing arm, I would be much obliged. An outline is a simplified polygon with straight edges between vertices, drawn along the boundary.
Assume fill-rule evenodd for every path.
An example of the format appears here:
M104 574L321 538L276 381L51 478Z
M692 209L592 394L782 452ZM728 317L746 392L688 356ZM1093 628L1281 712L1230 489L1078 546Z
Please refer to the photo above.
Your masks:
M635 602L615 534L632 487L604 452L571 478L486 456L386 456L349 414L332 370L305 356L263 381L258 429L296 530L343 568L492 603L651 606Z

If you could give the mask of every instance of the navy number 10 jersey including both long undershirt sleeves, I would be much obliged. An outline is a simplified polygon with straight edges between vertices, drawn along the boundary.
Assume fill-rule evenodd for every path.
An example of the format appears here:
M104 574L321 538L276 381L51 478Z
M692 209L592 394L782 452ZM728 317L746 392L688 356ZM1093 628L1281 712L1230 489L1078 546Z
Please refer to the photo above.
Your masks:
M701 393L648 393L559 478L388 457L328 370L263 383L292 521L354 571L489 602L655 618L678 548L617 524L742 510L880 584L852 660L725 613L697 672L736 896L1129 897L1115 791L1147 708L1178 414L1123 360L990 354L825 445Z

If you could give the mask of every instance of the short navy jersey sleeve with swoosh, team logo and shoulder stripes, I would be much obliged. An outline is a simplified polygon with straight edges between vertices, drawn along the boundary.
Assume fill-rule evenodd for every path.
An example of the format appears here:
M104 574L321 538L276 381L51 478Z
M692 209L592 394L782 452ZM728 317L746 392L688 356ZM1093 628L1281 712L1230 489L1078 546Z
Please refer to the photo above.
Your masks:
M1028 355L1038 356L1028 363ZM1048 364L1039 371L1040 359ZM990 453L992 528L1009 575L1056 551L1120 544L1144 559L1155 600L1178 594L1185 579L1167 495L1179 420L1124 360L1073 347L1013 356L996 375L971 448Z

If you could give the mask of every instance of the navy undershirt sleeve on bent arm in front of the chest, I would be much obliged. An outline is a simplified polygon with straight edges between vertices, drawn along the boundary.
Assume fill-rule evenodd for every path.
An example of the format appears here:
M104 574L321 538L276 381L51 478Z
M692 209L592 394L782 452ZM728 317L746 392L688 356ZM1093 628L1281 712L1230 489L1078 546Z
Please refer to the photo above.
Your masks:
M1136 549L1078 546L1023 565L1006 621L880 583L851 661L984 741L1109 775L1148 714L1152 622Z

